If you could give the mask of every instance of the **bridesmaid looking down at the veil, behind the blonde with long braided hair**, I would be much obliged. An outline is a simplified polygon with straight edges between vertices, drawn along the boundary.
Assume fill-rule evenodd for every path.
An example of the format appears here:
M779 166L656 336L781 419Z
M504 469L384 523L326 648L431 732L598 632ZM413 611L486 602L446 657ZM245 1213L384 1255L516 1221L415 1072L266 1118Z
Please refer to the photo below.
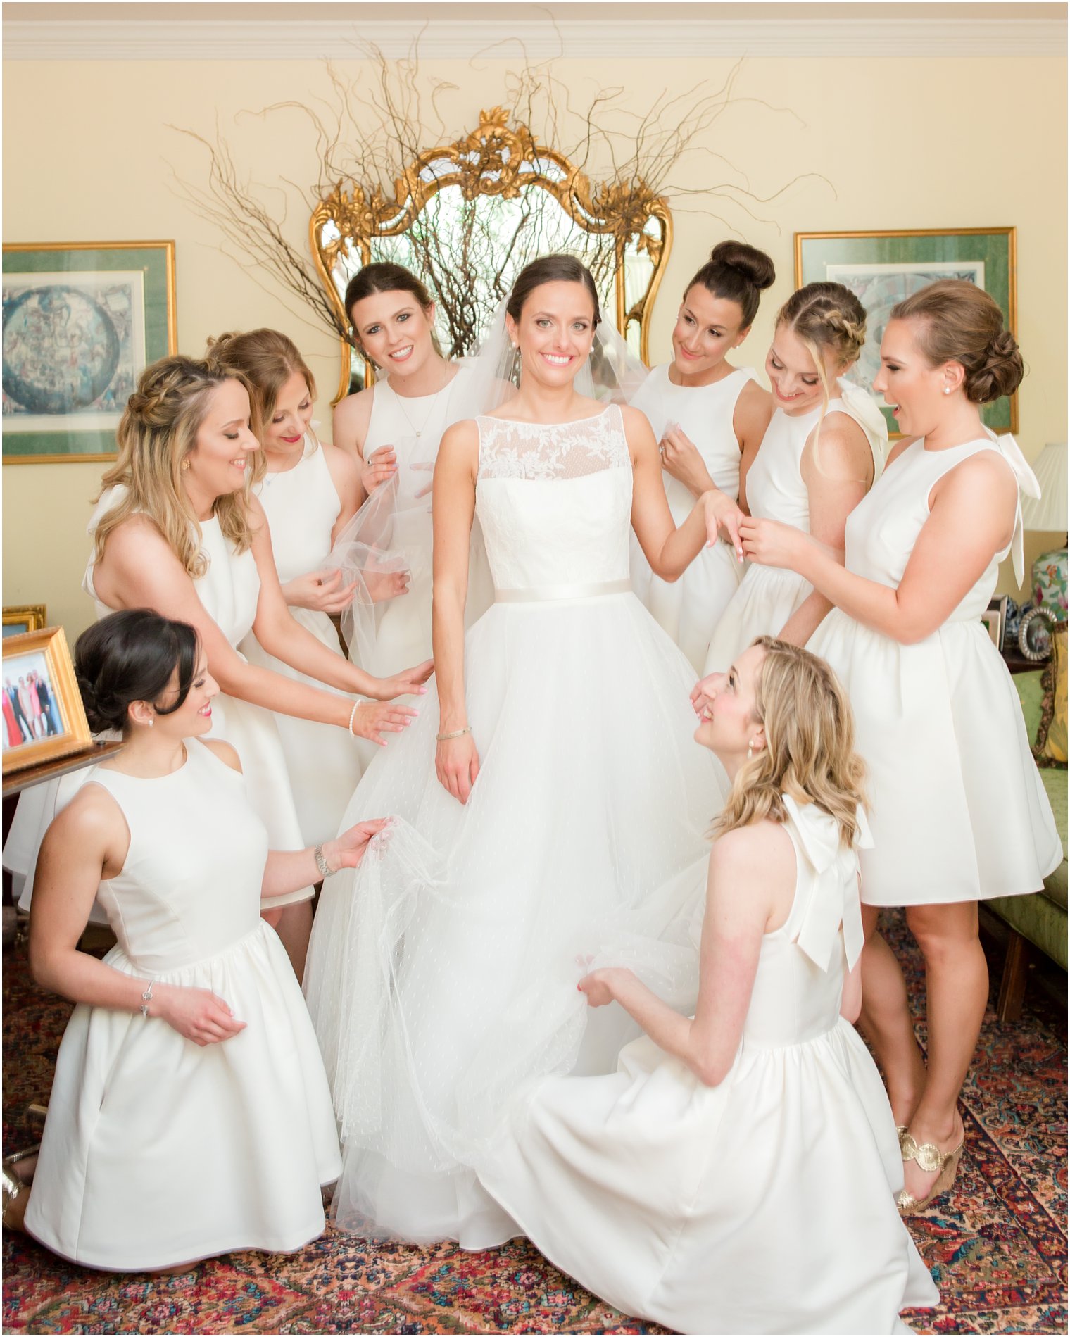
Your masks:
M312 428L316 381L297 345L278 330L222 334L209 345L210 356L239 372L249 384L261 422L263 473L253 495L263 507L272 535L282 595L294 622L312 632L346 673L338 634L330 620L366 586L342 584L341 572L325 559L361 500L360 472L348 452L317 440ZM407 575L383 578L385 598L405 592ZM310 677L269 654L250 631L241 642L250 663L322 687L322 674ZM353 698L341 693L348 706ZM333 725L274 711L286 757L301 836L316 845L338 830L345 805L361 773L353 741Z

